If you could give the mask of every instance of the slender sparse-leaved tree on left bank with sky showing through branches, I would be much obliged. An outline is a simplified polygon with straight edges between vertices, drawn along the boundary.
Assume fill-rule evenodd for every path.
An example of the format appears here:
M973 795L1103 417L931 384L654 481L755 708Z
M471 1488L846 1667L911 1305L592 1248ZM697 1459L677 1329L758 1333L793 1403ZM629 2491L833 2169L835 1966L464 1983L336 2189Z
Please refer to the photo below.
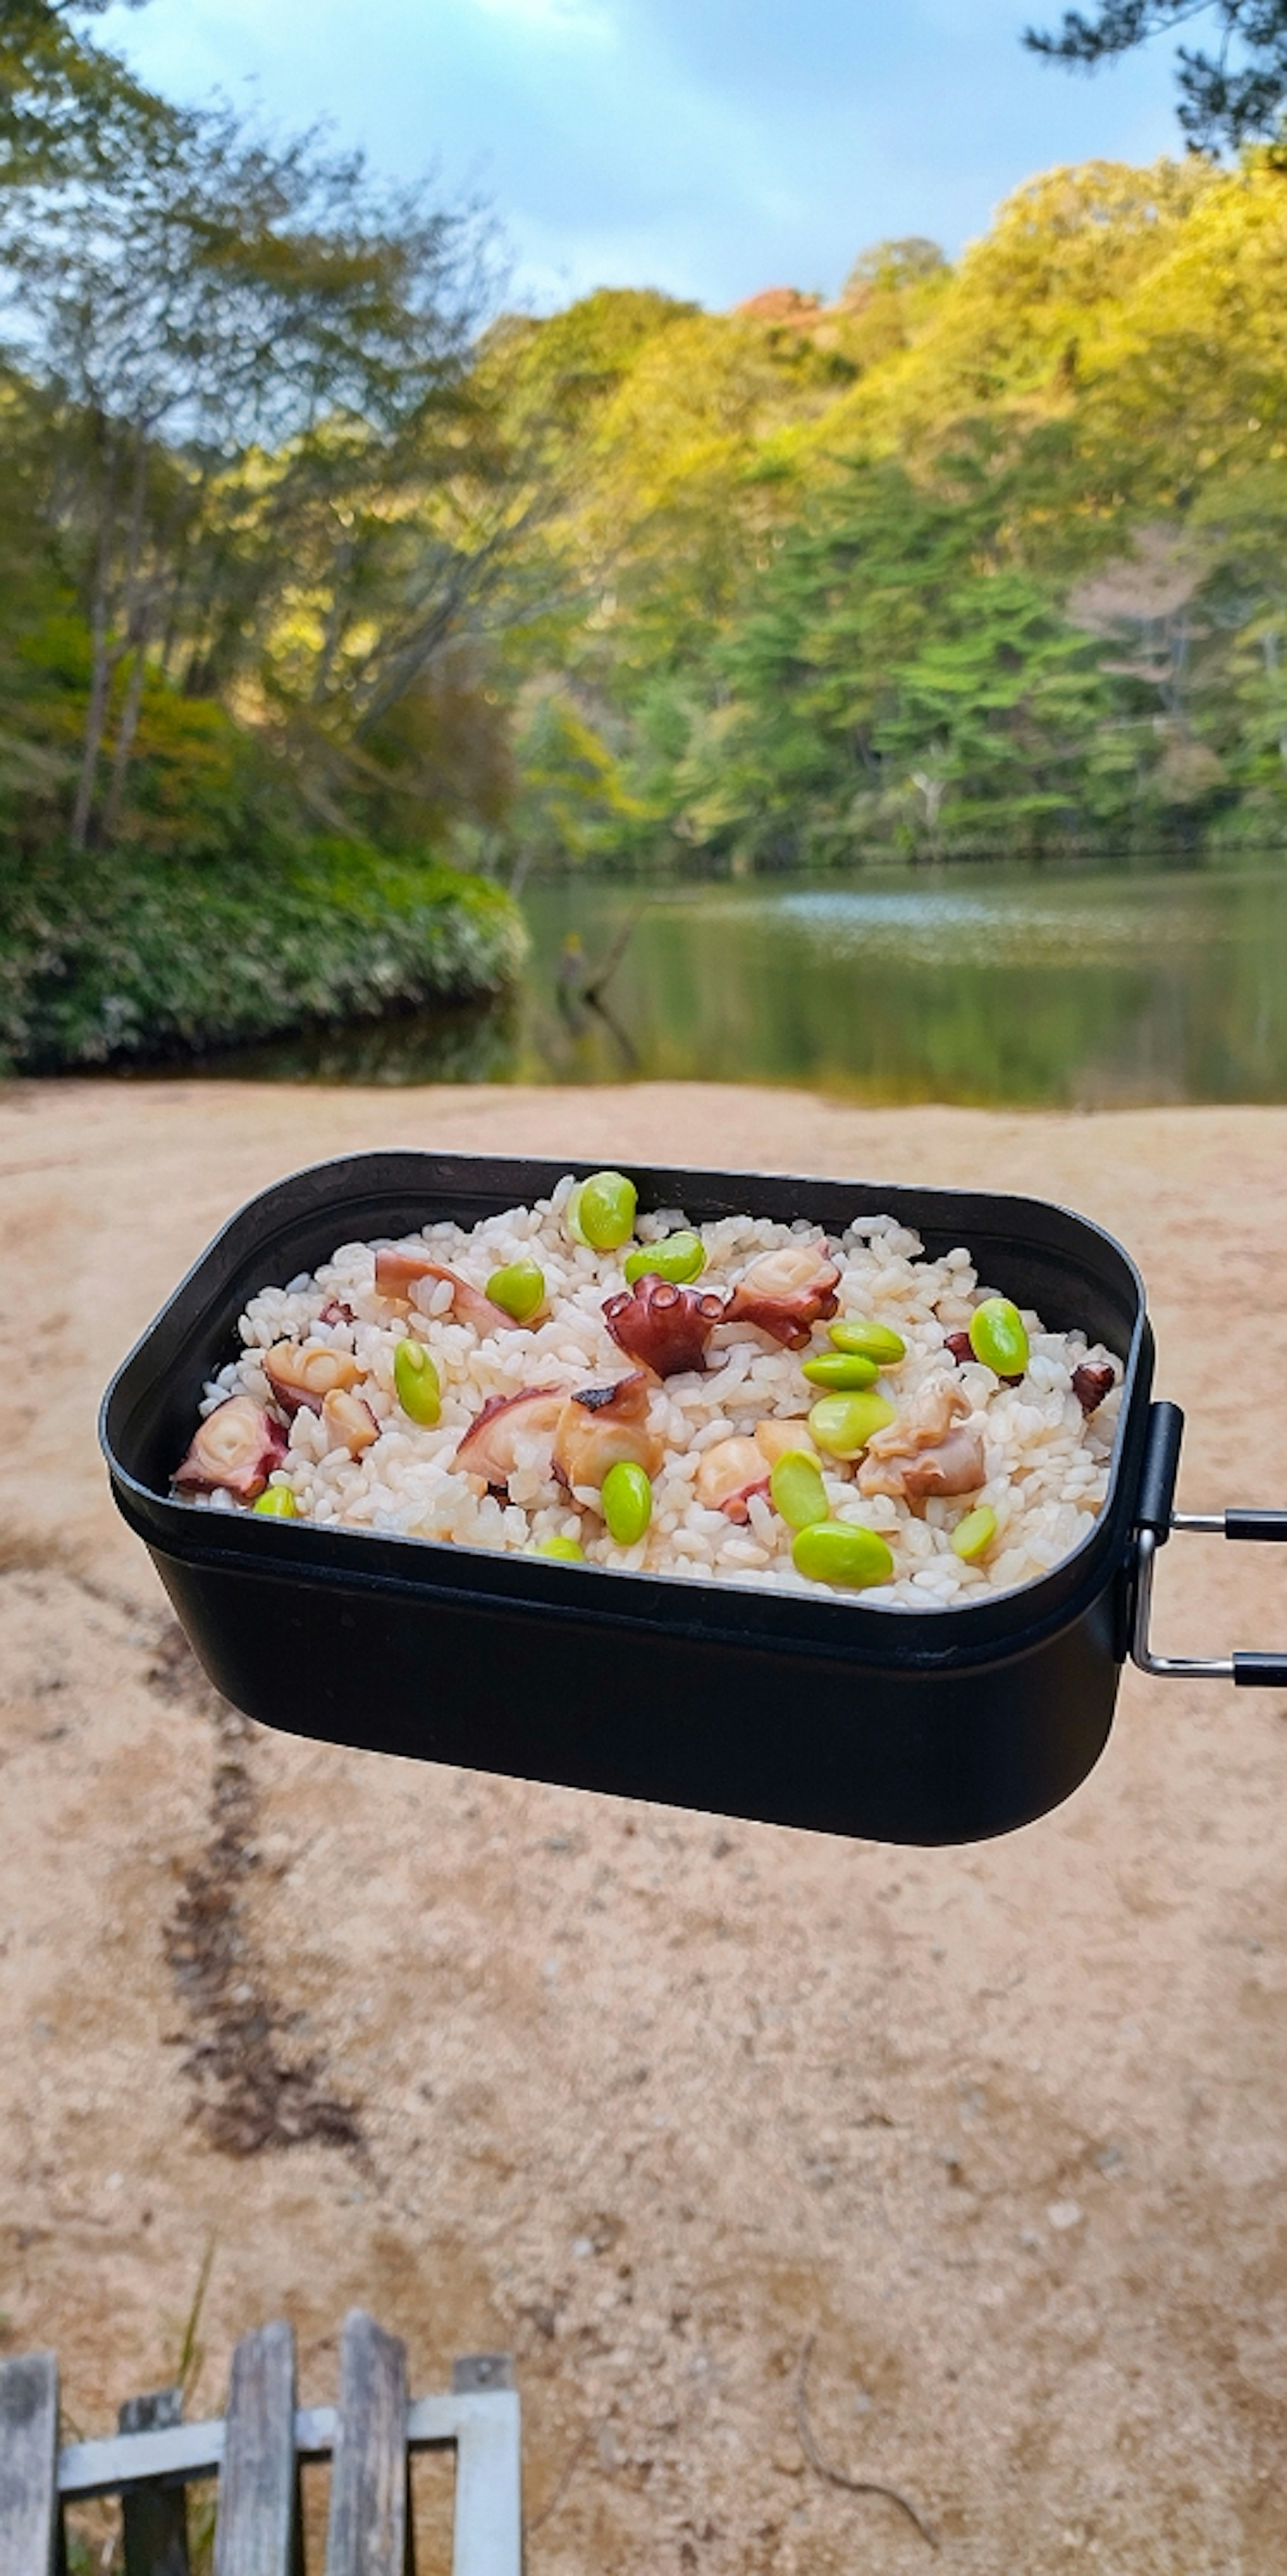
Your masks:
M337 822L337 737L422 683L479 567L445 500L476 222L229 108L134 118L93 180L18 149L3 180L10 343L49 407L46 515L90 631L72 845L121 829L157 667L242 693L265 732L273 711Z

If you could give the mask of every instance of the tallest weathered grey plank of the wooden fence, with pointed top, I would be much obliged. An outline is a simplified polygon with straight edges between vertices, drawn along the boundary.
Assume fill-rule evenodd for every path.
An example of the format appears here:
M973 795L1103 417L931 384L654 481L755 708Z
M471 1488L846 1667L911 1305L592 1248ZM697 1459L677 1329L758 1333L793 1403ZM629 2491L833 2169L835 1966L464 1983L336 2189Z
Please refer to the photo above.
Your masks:
M409 2537L407 2347L350 2308L340 2339L327 2576L404 2576Z

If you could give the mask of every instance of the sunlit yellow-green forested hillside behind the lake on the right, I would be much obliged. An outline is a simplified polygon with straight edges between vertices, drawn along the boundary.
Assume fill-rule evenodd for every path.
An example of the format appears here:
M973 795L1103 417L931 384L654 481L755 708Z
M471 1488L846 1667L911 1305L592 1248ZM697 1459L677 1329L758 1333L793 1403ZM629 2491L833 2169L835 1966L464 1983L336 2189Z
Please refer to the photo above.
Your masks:
M1130 850L1287 829L1287 178L1091 162L831 309L602 294L556 392L523 860Z

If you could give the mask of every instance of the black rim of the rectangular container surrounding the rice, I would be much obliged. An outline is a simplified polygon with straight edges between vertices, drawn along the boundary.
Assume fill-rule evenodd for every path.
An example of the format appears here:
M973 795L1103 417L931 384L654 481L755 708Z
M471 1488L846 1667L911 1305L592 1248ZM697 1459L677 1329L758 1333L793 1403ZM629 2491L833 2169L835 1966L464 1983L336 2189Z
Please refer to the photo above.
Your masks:
M1055 1636L1076 1620L1091 1600L1099 1597L1104 1582L1112 1582L1117 1571L1127 1569L1135 1540L1135 1489L1148 1440L1153 1334L1145 1311L1143 1275L1117 1236L1094 1224L1094 1218L1081 1216L1076 1208L1066 1208L1060 1200L1037 1200L1004 1190L955 1190L929 1182L924 1188L914 1182L878 1185L865 1180L837 1180L834 1175L808 1177L795 1172L721 1170L716 1175L682 1167L651 1167L649 1172L641 1172L649 1182L669 1180L674 1185L672 1195L656 1193L659 1206L682 1206L682 1185L687 1182L692 1190L692 1185L703 1180L718 1180L723 1193L739 1188L744 1193L754 1193L757 1188L790 1188L801 1195L819 1193L826 1198L842 1190L844 1195L860 1195L862 1206L873 1213L885 1213L891 1200L898 1198L934 1198L945 1208L952 1203L986 1203L1001 1216L1014 1211L1009 1242L1017 1247L1024 1242L1022 1211L1037 1208L1045 1216L1055 1216L1076 1226L1081 1236L1094 1236L1094 1242L1122 1265L1122 1273L1135 1293L1135 1321L1130 1347L1117 1352L1125 1378L1109 1455L1109 1486L1099 1515L1086 1528L1086 1535L1076 1543L1076 1548L1071 1548L1068 1556L1060 1558L1058 1566L1027 1584L1019 1584L1014 1592L1001 1592L991 1600L968 1602L952 1610L880 1610L862 1605L862 1600L855 1600L852 1595L837 1600L831 1595L813 1597L785 1589L775 1592L767 1584L739 1582L736 1577L698 1582L623 1566L553 1564L548 1558L517 1556L499 1548L471 1548L463 1543L409 1538L394 1530L368 1533L309 1520L288 1522L268 1515L257 1517L255 1548L250 1551L242 1538L242 1522L250 1515L208 1512L196 1502L160 1494L124 1463L118 1455L118 1406L126 1399L131 1376L147 1360L154 1337L165 1329L175 1311L188 1303L190 1293L203 1285L203 1278L211 1265L216 1265L219 1252L229 1244L229 1239L247 1229L260 1211L268 1213L270 1206L281 1208L286 1190L353 1180L389 1162L425 1162L438 1172L450 1164L468 1164L471 1172L494 1172L497 1177L499 1172L530 1172L538 1177L530 1182L528 1198L548 1195L553 1182L566 1172L582 1180L597 1170L597 1164L577 1162L571 1157L548 1162L535 1157L517 1159L507 1154L376 1149L368 1154L342 1154L304 1164L301 1170L286 1175L286 1180L270 1182L265 1190L257 1190L250 1200L245 1200L219 1226L206 1249L172 1288L160 1314L139 1334L131 1352L121 1360L121 1368L111 1378L100 1404L98 1437L108 1463L116 1504L129 1528L162 1556L193 1566L221 1566L265 1582L311 1579L319 1584L358 1584L363 1592L376 1587L389 1592L391 1600L409 1592L435 1592L456 1600L479 1600L492 1595L497 1605L523 1602L556 1615L615 1620L631 1631L649 1631L664 1623L672 1633L736 1633L741 1641L754 1636L757 1643L770 1649L780 1646L790 1654L816 1651L834 1656L842 1651L855 1664L870 1662L888 1667L891 1662L898 1662L924 1672L1001 1662L1014 1654L1019 1638L1024 1646L1035 1646L1042 1636ZM438 1182L438 1188L427 1188L427 1195L448 1198L450 1188ZM497 1188L494 1195L497 1206L523 1203L505 1188ZM649 1198L651 1195L654 1193L649 1190ZM746 1198L744 1206L754 1213L754 1195ZM337 1193L335 1216L340 1226L342 1208L345 1195ZM996 1224L994 1231L999 1231ZM335 1236L335 1242L342 1239L342 1234ZM968 1231L958 1239L968 1242ZM245 1296L255 1296L263 1285L273 1285L273 1280L255 1280L255 1285L245 1288Z

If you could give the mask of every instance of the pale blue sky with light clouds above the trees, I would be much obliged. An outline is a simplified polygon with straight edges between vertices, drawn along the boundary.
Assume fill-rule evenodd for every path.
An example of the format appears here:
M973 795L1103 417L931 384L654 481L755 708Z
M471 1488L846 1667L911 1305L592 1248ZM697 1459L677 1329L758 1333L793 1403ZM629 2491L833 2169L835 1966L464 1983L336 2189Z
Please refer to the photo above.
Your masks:
M1032 170L1176 149L1166 52L1094 80L1019 46L1040 0L152 0L111 39L172 98L324 116L438 165L510 242L512 301L834 294L857 250L955 252ZM250 85L250 90L247 90Z

